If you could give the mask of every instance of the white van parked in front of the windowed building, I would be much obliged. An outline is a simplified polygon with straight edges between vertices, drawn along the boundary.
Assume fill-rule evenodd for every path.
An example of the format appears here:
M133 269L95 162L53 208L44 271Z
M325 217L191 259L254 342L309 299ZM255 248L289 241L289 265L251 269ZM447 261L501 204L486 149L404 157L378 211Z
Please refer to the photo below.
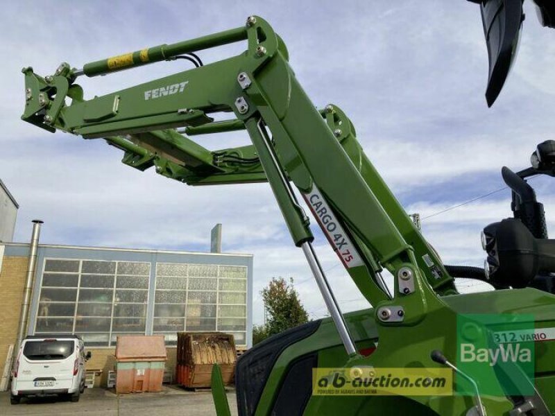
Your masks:
M12 372L10 402L22 397L65 395L78 401L85 390L85 356L83 340L76 335L28 336L17 355Z

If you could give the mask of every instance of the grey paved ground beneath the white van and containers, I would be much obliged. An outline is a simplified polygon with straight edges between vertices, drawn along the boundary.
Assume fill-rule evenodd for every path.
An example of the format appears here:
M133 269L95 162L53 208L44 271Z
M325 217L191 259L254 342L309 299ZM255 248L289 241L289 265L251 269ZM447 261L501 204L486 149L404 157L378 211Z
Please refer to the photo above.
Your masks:
M232 416L237 416L234 391L228 391ZM216 415L210 390L189 392L178 386L164 385L160 393L116 395L113 390L85 390L78 403L55 397L23 399L10 405L8 392L0 392L0 416L5 415L85 415L85 416L158 416Z

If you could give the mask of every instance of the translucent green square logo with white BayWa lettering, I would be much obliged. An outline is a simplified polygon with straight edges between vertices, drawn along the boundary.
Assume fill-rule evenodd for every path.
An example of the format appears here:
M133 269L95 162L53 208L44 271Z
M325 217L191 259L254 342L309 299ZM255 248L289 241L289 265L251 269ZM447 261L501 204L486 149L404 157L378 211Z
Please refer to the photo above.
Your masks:
M456 365L477 383L480 394L533 395L533 315L458 315L456 332ZM476 395L472 383L458 373L455 390Z

